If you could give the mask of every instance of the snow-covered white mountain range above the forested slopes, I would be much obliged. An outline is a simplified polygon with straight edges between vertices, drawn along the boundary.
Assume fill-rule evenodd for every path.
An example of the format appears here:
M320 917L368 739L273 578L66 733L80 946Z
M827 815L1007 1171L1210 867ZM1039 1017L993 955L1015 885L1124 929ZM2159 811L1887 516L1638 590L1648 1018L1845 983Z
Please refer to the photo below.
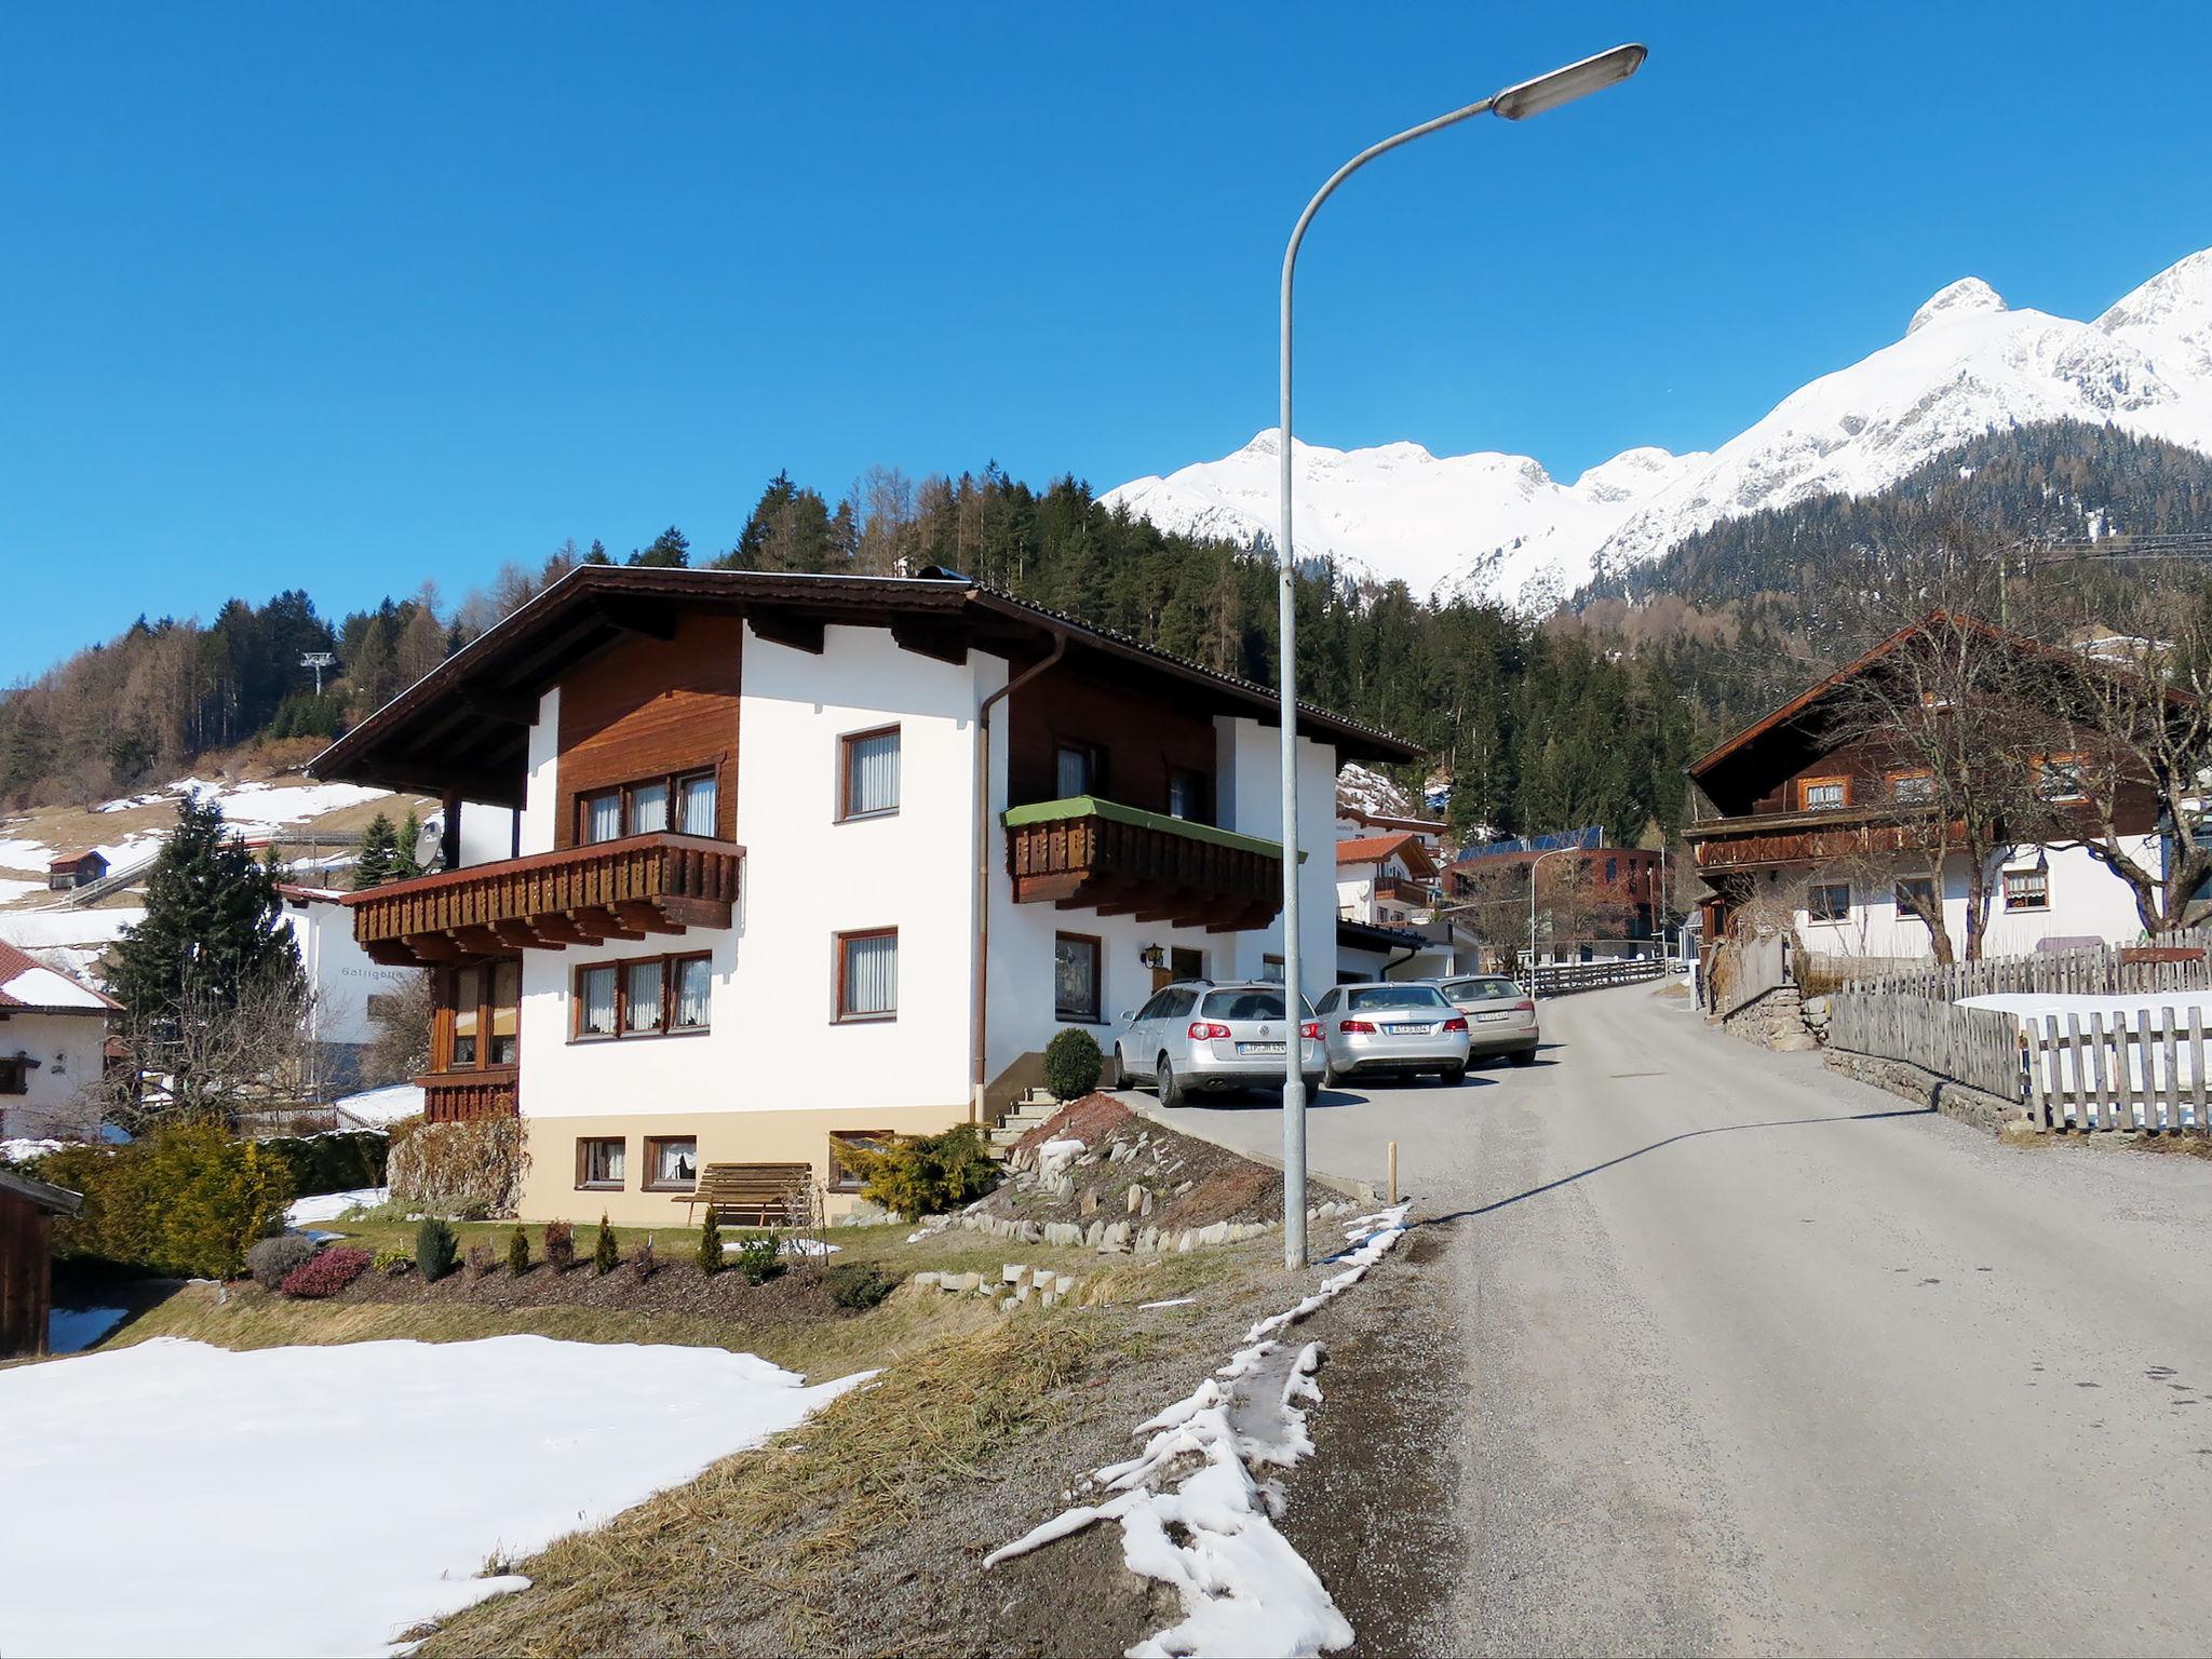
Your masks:
M1723 518L1820 491L1874 493L1940 449L2046 420L2110 420L2212 453L2212 250L2095 323L2013 310L1980 276L1960 279L1913 312L1902 338L1798 387L1712 453L1624 449L1573 484L1528 456L1298 442L1298 551L1420 597L1540 611ZM1164 531L1252 544L1276 531L1276 478L1270 427L1232 456L1104 500Z

